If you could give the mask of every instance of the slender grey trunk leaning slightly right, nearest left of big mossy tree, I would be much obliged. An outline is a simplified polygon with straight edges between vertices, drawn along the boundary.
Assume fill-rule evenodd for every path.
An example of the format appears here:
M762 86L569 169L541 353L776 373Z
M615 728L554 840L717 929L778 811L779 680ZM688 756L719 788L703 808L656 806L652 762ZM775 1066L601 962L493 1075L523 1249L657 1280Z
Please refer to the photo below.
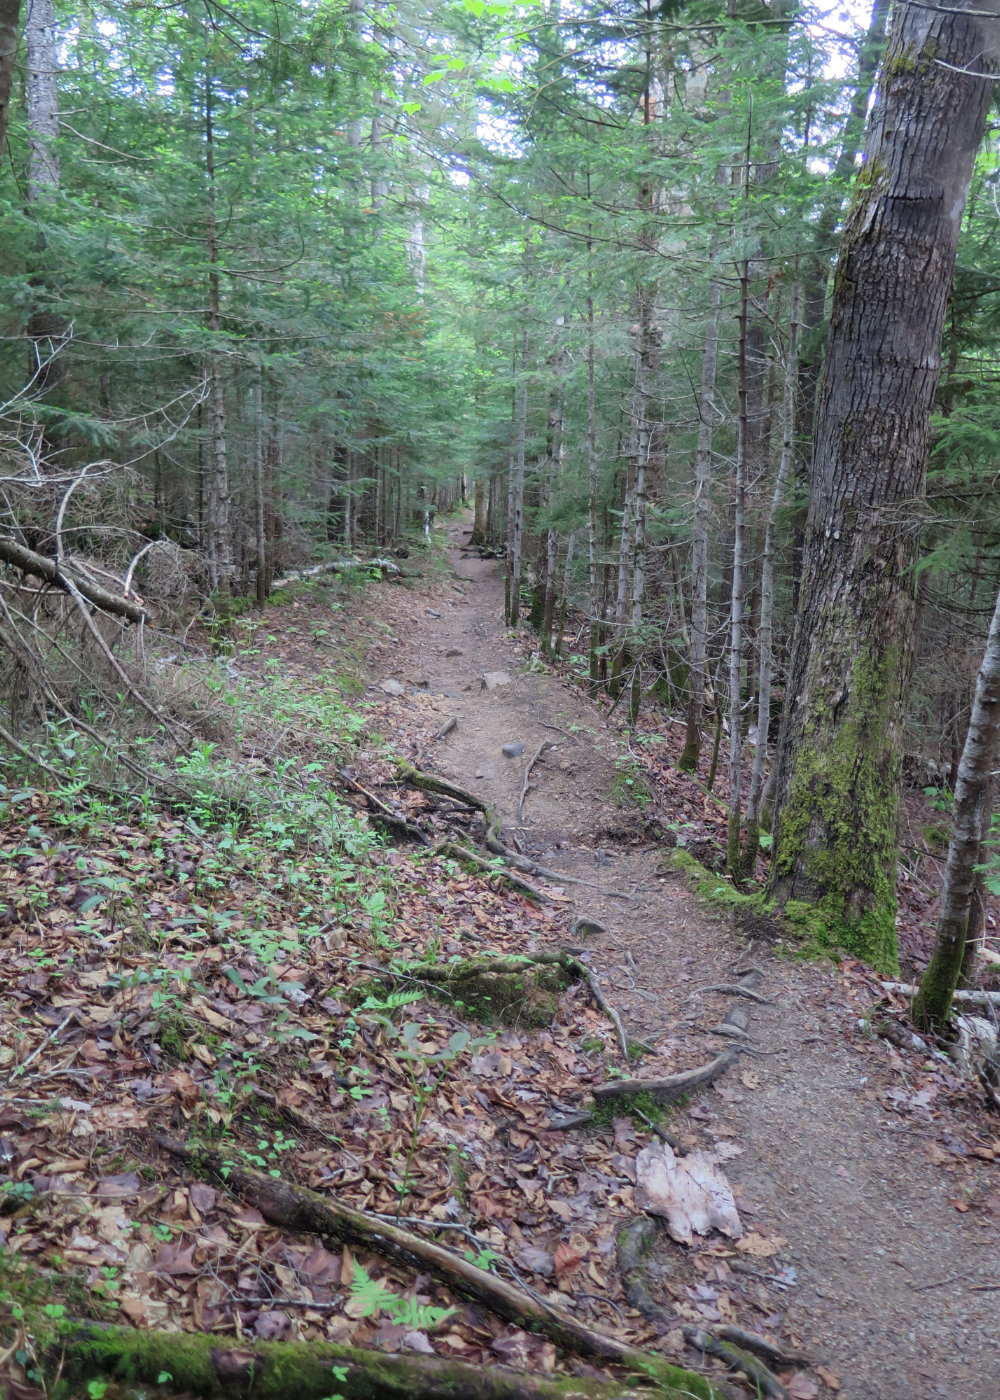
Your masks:
M770 728L770 682L773 673L773 619L775 619L775 533L777 512L784 500L784 491L791 475L796 447L796 379L798 374L798 284L791 290L791 321L789 323L789 356L784 365L784 396L782 400L782 456L775 477L775 491L770 498L768 528L763 536L763 559L761 561L761 669L756 706L756 748L751 770L749 795L746 798L746 844L741 857L742 879L754 875L758 851L761 850L761 818L763 798L763 777L768 763L768 731Z

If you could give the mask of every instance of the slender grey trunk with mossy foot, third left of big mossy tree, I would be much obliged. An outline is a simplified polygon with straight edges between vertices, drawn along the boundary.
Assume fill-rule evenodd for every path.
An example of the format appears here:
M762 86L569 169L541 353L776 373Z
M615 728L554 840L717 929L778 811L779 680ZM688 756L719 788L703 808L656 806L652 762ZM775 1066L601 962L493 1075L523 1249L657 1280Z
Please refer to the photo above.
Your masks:
M695 514L690 528L690 665L688 734L678 767L697 771L704 717L704 676L709 636L709 507L711 489L711 438L716 419L716 367L718 364L718 315L721 290L716 279L709 286L709 319L702 353L702 396L697 410L695 452Z

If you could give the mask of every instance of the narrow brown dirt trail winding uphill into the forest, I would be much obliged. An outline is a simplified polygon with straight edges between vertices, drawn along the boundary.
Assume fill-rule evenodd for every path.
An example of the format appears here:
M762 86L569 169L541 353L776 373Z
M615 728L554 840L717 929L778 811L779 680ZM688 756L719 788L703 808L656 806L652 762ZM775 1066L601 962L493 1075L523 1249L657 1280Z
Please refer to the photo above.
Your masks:
M566 886L570 917L606 925L591 958L629 1032L662 1049L664 1036L681 1029L700 1037L707 1060L720 1042L702 1028L730 1002L697 988L730 980L748 959L746 941L664 874L661 847L615 841L627 826L612 801L622 734L576 686L525 673L503 627L500 566L462 557L464 532L464 522L448 528L455 581L434 609L420 603L385 672L423 683L440 697L443 718L458 720L424 763L482 792L507 840L517 836L527 854L599 886ZM482 689L487 671L511 680ZM518 823L524 767L543 741L553 748L535 766ZM503 756L510 742L524 743L521 757ZM752 1009L761 1053L692 1107L693 1126L700 1113L709 1137L744 1149L725 1170L748 1228L789 1242L779 1261L749 1260L759 1324L769 1312L786 1319L840 1376L843 1400L997 1400L1000 1295L973 1285L1000 1277L1000 1217L975 1208L1000 1190L1000 1161L943 1165L940 1119L919 1102L906 1114L887 1109L887 1085L906 1088L903 1063L859 1032L864 1004L843 970L777 959L763 945L752 948L752 962L775 1002ZM990 1130L996 1137L983 1119L983 1141ZM973 1208L962 1212L957 1200ZM1000 1208L1000 1196L992 1200ZM768 1282L779 1264L794 1270L784 1291Z

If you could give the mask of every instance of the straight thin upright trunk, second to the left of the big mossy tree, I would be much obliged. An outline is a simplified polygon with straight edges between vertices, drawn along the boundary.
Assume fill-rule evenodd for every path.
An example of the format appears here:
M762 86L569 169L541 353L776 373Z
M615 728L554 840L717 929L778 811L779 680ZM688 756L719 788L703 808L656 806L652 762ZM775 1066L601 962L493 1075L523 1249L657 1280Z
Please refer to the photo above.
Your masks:
M739 823L742 812L742 650L744 650L744 547L746 536L746 452L749 440L746 398L746 304L749 265L739 269L739 342L737 351L737 469L732 483L732 592L730 598L730 819L725 869L739 879Z

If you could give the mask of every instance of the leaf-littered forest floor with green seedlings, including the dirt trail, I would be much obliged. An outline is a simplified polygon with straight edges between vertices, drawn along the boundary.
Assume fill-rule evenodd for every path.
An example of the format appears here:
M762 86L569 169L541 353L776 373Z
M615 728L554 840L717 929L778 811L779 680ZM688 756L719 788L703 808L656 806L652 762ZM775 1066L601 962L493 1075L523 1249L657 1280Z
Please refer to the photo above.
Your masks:
M685 1327L735 1323L804 1352L782 1372L793 1400L996 1400L1000 1131L980 1091L873 1035L885 998L857 962L807 965L706 903L716 882L696 890L669 843L710 843L717 799L664 762L655 732L630 735L504 629L500 566L462 547L465 521L437 533L447 567L431 559L406 587L283 589L228 665L224 699L256 718L225 739L224 714L209 717L220 741L203 769L214 781L228 742L237 773L314 806L276 798L251 818L244 802L227 825L210 804L7 795L0 1302L22 1260L62 1278L59 1308L80 1305L78 1278L90 1306L137 1327L559 1365L543 1337L480 1305L448 1312L440 1281L377 1249L276 1226L165 1156L167 1134L431 1225L590 1326L713 1376ZM566 881L532 876L549 896L536 904L445 855L373 844L359 790L434 839L465 820L482 840L482 823L401 783L399 759L482 797L507 844ZM310 832L345 783L357 819L339 808L324 848ZM546 949L599 976L651 1047L641 1078L717 1056L732 998L710 988L762 974L749 1044L664 1120L721 1163L742 1236L686 1246L662 1231L653 1320L616 1267L651 1133L632 1116L557 1127L626 1072L608 1018L580 983L506 1025L433 991L434 965ZM24 1371L14 1393L41 1397Z

